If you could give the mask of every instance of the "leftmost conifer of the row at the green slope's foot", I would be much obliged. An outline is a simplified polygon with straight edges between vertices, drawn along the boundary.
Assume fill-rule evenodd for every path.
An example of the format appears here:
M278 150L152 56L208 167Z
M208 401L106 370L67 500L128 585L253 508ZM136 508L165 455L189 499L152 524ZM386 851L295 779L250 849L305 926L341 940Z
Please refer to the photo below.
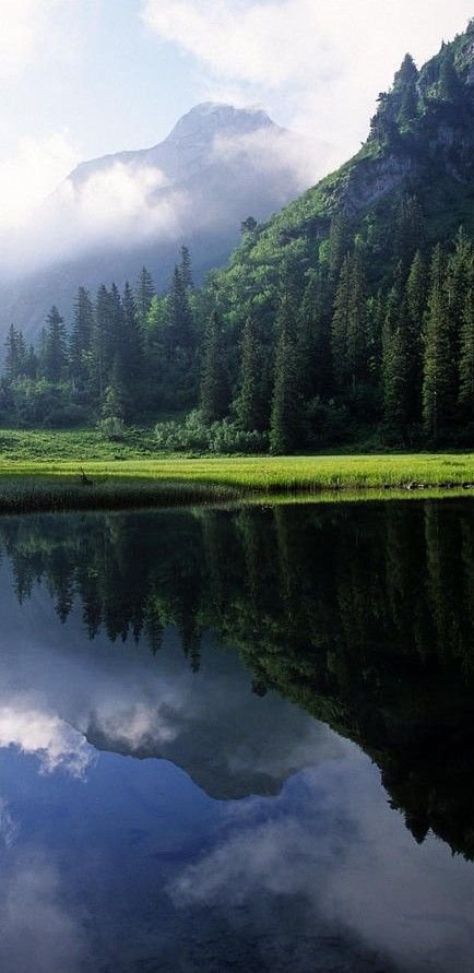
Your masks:
M204 333L200 400L206 424L222 419L230 400L224 333L216 311L212 312Z

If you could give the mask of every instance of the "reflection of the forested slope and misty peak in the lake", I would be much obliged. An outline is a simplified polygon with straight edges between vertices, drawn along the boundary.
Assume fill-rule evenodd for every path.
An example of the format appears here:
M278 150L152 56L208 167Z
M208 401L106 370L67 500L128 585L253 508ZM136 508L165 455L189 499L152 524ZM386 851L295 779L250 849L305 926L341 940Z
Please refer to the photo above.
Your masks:
M4 616L2 698L22 668L94 747L222 798L331 756L310 714L377 762L418 842L474 858L469 501L5 518L0 545L1 597L28 607Z

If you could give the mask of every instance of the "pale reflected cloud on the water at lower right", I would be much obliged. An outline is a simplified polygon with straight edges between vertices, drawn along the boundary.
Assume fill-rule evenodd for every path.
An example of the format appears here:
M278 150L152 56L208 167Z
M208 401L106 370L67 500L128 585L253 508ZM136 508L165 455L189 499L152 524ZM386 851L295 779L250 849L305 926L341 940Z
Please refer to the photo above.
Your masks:
M331 923L401 969L464 970L472 953L470 866L434 838L418 846L360 756L306 771L304 800L263 820L261 802L230 836L169 886L176 905L241 907L300 898L308 924ZM427 910L427 903L429 909Z

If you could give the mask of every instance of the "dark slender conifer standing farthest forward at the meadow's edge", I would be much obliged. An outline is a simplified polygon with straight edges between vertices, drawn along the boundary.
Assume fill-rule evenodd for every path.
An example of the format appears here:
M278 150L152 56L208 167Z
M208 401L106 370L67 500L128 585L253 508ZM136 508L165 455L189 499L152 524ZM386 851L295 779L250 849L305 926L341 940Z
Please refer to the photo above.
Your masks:
M270 449L275 454L295 452L301 439L300 376L295 317L289 297L285 294L277 320L279 342L270 418Z

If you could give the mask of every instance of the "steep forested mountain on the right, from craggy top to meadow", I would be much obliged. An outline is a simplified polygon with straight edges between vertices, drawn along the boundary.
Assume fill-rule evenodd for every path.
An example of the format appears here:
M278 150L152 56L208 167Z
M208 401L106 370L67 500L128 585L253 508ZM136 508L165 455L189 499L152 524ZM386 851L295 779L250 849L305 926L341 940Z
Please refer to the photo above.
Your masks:
M211 401L205 360L205 418L275 453L472 446L474 20L419 71L406 55L360 151L246 233L208 295L233 393Z

